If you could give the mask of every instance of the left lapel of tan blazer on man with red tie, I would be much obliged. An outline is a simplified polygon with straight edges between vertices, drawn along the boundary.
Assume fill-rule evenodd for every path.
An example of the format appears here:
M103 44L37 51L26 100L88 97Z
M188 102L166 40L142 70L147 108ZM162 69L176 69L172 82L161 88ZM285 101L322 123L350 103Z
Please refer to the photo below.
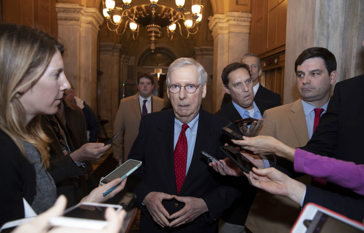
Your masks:
M296 100L290 110L291 112L288 117L292 123L293 130L296 133L300 146L305 146L309 138L305 112L303 110L301 99Z

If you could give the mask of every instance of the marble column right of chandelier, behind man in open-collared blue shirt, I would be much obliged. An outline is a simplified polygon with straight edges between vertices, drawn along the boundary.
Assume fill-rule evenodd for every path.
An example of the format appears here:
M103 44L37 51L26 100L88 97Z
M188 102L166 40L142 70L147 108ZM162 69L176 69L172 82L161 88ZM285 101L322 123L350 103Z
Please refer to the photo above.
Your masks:
M251 13L226 12L215 14L209 22L214 38L213 84L211 111L220 109L225 94L221 80L222 70L233 62L240 62L248 52Z

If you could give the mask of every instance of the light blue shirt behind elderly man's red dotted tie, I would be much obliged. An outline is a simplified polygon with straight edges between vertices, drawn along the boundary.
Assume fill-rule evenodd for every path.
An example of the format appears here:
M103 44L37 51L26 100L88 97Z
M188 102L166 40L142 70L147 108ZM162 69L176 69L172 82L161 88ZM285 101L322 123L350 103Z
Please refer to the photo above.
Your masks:
M186 175L187 171L190 168L193 151L195 149L195 142L196 142L196 135L197 135L197 127L198 127L198 117L200 114L187 123L189 128L187 128L185 134L187 138L187 164L186 164ZM180 122L177 118L174 118L174 141L173 141L173 148L176 147L179 134L181 133L183 123Z

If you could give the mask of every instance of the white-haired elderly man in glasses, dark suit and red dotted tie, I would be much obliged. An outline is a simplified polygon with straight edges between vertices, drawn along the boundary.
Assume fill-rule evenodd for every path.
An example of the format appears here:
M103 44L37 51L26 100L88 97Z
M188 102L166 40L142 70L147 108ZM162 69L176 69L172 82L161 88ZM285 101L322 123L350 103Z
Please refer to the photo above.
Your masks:
M215 220L240 191L200 151L224 157L219 132L229 121L202 110L207 73L199 63L177 59L167 74L173 109L142 116L128 155L143 162L128 182L142 209L140 232L216 232Z

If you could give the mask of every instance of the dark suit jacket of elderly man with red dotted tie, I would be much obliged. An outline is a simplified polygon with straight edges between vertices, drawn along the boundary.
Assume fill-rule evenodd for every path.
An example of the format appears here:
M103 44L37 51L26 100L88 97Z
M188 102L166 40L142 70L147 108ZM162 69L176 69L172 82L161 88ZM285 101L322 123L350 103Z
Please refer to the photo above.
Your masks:
M177 194L174 173L174 112L173 110L153 112L142 116L139 134L131 148L129 159L143 162L129 179L135 185L137 201L142 209L140 232L169 232L157 225L145 206L141 204L151 191L158 191L179 196L202 198L209 211L195 218L188 224L173 228L173 232L216 232L219 214L229 207L240 191L227 184L226 177L221 177L208 166L200 151L204 150L217 159L224 158L219 150L219 132L228 121L204 110L199 111L198 129L194 153L182 188ZM220 182L220 183L219 183ZM165 209L173 214L184 207L184 203L174 206L175 200L164 200Z

